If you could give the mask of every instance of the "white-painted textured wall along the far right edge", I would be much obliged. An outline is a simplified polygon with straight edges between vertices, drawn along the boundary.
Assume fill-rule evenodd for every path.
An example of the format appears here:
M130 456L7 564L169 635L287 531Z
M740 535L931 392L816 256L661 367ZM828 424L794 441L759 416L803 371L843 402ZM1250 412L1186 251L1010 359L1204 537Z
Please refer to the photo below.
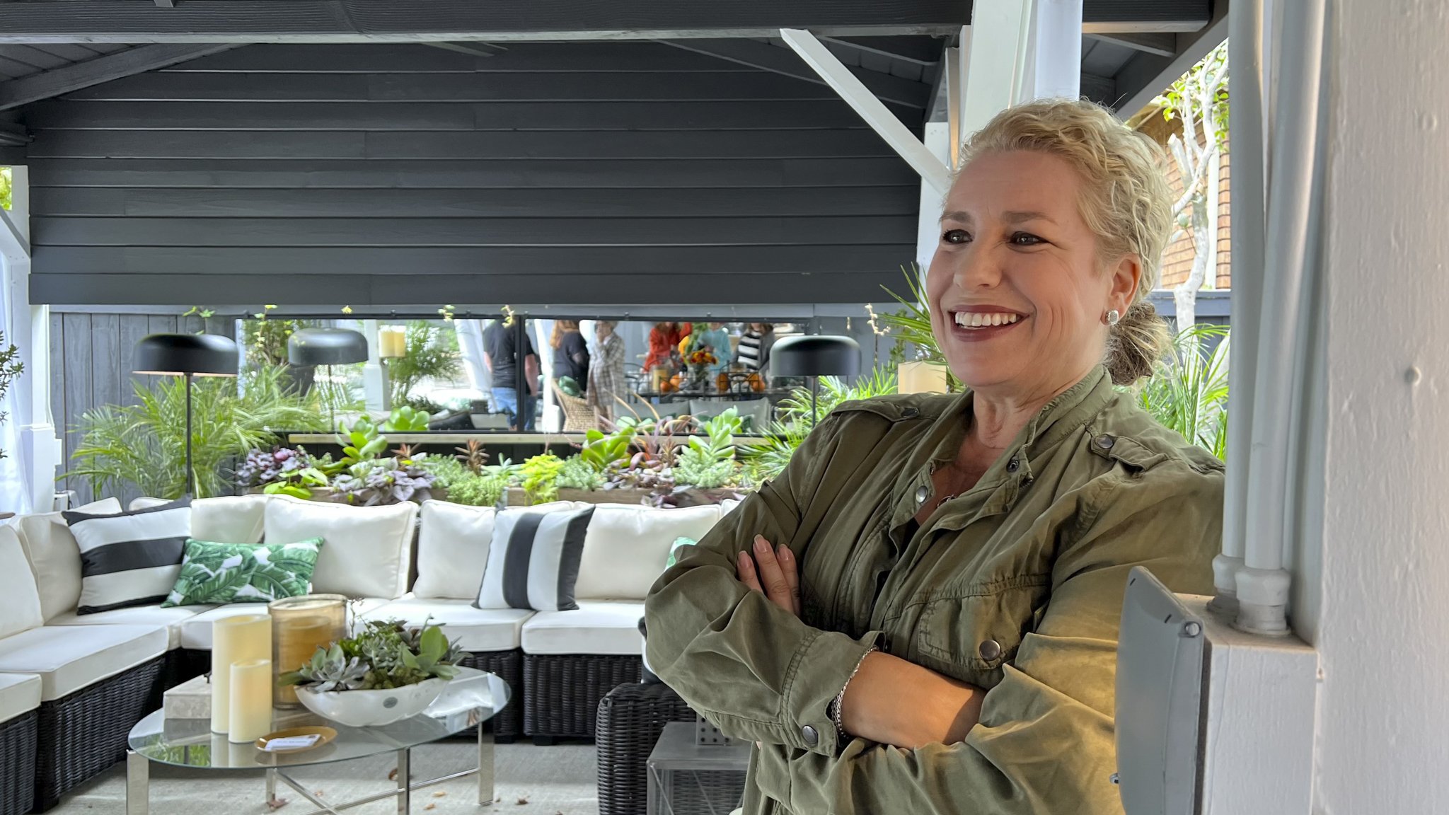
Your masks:
M1332 1L1329 25L1314 812L1437 814L1449 811L1449 4Z

